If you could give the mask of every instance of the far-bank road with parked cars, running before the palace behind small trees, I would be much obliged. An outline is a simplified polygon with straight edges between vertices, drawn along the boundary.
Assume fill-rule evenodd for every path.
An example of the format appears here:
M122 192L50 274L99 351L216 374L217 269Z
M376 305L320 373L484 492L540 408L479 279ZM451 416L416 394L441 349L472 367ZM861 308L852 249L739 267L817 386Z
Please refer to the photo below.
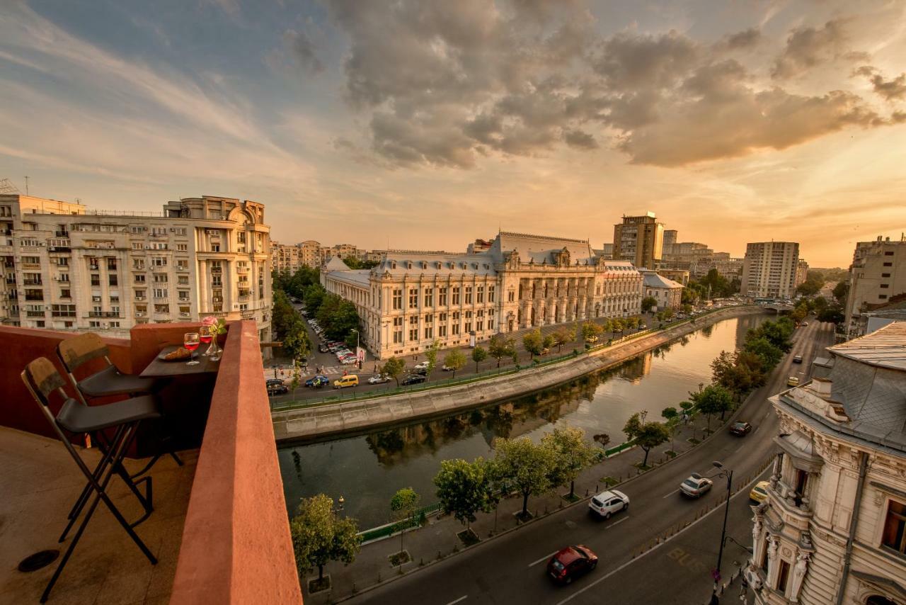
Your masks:
M301 304L294 304L294 307L298 311L302 310ZM643 314L642 317L644 317L646 319L646 321L649 323L652 323L652 322L657 323L657 320L654 319L653 317L651 317L650 314ZM596 321L597 323L602 323L603 321L606 321L606 318L599 317L599 318L595 319L594 321ZM361 370L356 370L355 366L353 366L353 365L343 366L342 364L340 364L337 361L336 357L333 356L333 353L318 353L317 346L319 343L322 342L322 340L321 340L321 338L318 337L317 334L314 333L312 327L308 325L307 320L304 323L305 323L305 329L308 332L308 337L311 340L313 347L314 347L312 354L308 356L309 371L307 373L304 373L304 379L311 378L312 376L314 376L315 367L323 366L324 367L324 372L323 372L324 376L327 376L332 381L335 378L342 376L344 372L348 372L350 374L358 374L359 379L361 380L361 383L359 386L354 387L356 393L368 393L368 392L372 392L372 391L390 390L390 389L396 388L396 383L394 381L390 381L389 383L385 383L385 384L381 384L381 385L369 385L368 384L368 378L370 378L371 376L374 376L374 374L375 374L375 363L376 362L373 360L373 358L371 359L371 361L366 361L364 366L362 366ZM547 334L550 334L556 330L559 330L562 327L564 327L564 324L544 326L544 327L541 327L541 333L546 336ZM569 326L567 325L566 327L569 327ZM531 356L525 352L525 349L522 346L522 336L525 334L526 331L528 331L528 330L527 329L519 330L511 335L512 337L514 337L516 339L516 350L519 353L519 363L521 363L523 365L528 365L531 363L531 361L530 361ZM626 336L633 332L635 332L635 330L626 330L625 334L623 334L623 335L621 335L620 333L604 334L604 335L602 335L601 338L602 338L602 340L606 341L610 337ZM487 343L482 343L482 345L487 348ZM569 353L570 351L573 350L573 348L583 350L583 346L584 346L584 343L583 343L582 335L577 334L576 340L573 343L563 346L562 353L564 353L564 354ZM456 376L469 376L469 375L477 374L475 362L471 361L471 348L464 346L464 347L462 347L462 350L465 352L466 357L469 361L467 362L466 366L464 366L461 370L459 370L457 372ZM445 349L440 352L439 358L438 358L438 367L436 367L434 369L434 371L431 373L431 376L429 376L429 381L452 377L451 373L444 372L440 368L440 366L443 365L443 363L442 363L443 357L446 355L447 351L448 351L448 349ZM558 355L558 351L557 351L556 347L552 347L550 355L554 355L554 356ZM420 355L417 355L417 356L405 356L404 357L404 361L406 362L406 366L408 368L415 366L416 363L418 363L419 361L422 361L424 359L425 359L425 355L423 353ZM378 363L380 364L380 362L378 362ZM290 369L288 369L290 366L290 363L288 361L284 362L284 365L287 367L287 369L284 370L284 375L282 375L282 376L280 375L279 370L276 372L276 376L275 376L273 365L274 365L274 362L271 362L271 367L265 367L265 377L267 377L267 378L278 377L278 378L283 378L286 381L289 381L292 378L292 372ZM478 370L478 372L488 372L490 370L496 369L496 366L497 366L496 359L488 358L486 361L478 364L477 370ZM511 367L511 366L513 366L513 362L510 359L502 360L502 363L501 363L502 369L506 370L506 368ZM299 401L299 400L304 400L304 399L313 399L313 398L317 398L317 397L323 397L324 395L330 395L331 392L332 392L331 388L328 386L322 387L320 389L313 389L313 388L305 388L303 385L300 388L296 389L294 394L288 393L286 395L274 395L271 397L271 401L273 403L277 404L277 403L284 403L284 402L290 402L290 401ZM344 393L346 393L346 392L348 392L348 391L344 390Z

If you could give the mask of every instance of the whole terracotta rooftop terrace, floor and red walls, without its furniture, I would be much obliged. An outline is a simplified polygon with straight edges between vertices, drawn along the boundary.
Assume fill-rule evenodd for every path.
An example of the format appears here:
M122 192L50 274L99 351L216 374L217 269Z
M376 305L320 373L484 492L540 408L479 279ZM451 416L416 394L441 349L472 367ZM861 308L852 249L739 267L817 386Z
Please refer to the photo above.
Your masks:
M180 344L185 332L197 328L197 323L141 325L130 330L130 338L104 342L121 371L139 374L162 346ZM62 370L55 348L72 334L0 327L0 337L7 350L0 360L6 388L0 398L0 465L6 469L0 473L5 519L0 600L36 603L59 559L37 571L17 566L35 552L68 546L72 536L63 543L57 538L84 476L19 375L41 356ZM222 344L216 373L188 387L169 385L161 397L173 409L194 411L189 417L196 422L185 424L181 434L185 447L178 454L185 464L165 456L149 471L154 510L135 532L158 563L141 554L101 505L49 602L302 602L255 322L230 322ZM72 395L69 385L66 390ZM133 454L143 456L145 433L139 435ZM76 448L92 467L100 454L83 445ZM128 458L125 465L135 472L147 462ZM128 521L140 517L140 503L119 477L108 491Z

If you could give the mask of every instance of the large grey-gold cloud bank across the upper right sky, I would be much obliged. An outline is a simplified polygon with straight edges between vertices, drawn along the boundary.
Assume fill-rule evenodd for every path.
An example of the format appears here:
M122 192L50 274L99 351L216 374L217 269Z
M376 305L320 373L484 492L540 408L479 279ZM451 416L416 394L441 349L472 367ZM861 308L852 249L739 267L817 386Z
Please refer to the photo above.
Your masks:
M765 82L762 69L727 58L762 44L756 27L705 44L677 31L602 36L578 0L328 6L350 42L346 98L369 116L371 151L399 166L468 169L488 155L590 151L602 141L636 163L679 166L898 119L855 93L778 84L853 61L846 18L793 29L763 66Z

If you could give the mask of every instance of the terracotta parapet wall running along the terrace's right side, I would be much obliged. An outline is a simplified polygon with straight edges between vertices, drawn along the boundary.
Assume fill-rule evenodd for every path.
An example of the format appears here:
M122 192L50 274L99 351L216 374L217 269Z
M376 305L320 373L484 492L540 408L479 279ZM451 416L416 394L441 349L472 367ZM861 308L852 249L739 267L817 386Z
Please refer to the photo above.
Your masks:
M255 322L224 349L170 603L301 603Z

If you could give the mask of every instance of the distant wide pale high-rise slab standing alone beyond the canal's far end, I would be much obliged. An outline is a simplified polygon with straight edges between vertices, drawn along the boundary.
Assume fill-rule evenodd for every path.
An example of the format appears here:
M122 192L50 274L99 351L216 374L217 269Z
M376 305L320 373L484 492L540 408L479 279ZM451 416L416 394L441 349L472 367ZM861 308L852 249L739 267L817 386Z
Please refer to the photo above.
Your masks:
M740 294L753 298L793 298L799 244L762 241L746 245Z

